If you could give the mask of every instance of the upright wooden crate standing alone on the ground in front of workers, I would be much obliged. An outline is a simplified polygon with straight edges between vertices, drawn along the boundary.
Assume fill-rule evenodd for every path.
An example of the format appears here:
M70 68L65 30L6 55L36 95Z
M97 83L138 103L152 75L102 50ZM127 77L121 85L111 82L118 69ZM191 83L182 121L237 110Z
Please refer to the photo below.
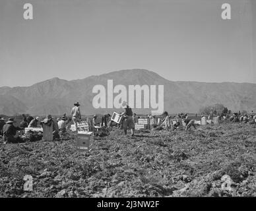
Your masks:
M92 144L94 143L94 137L92 132L79 131L79 138L77 139L77 149L81 151L92 150Z

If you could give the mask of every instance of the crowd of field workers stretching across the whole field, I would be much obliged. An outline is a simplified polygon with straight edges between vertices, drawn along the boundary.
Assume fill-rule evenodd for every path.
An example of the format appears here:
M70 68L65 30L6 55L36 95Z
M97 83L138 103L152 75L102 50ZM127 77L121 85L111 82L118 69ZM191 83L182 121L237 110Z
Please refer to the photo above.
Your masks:
M81 113L80 113L80 104L79 102L74 104L74 107L71 109L71 116L73 123L75 125L75 131L77 131L77 123L81 120ZM125 135L127 135L127 130L131 130L131 136L134 136L135 131L135 124L138 123L140 117L137 117L136 113L133 113L131 107L129 107L126 102L123 102L123 112L119 113L121 115L121 122L119 124L115 123L110 119L111 115L110 113L104 114L101 117L100 123L97 122L97 115L94 115L92 119L90 120L90 125L92 127L100 126L100 127L118 127L119 129L123 129ZM60 118L53 118L51 115L48 115L46 119L43 121L40 121L40 117L26 117L25 115L22 115L23 119L20 122L19 127L16 127L13 125L15 123L14 118L9 118L7 122L6 119L3 117L0 117L0 135L3 135L3 139L7 142L16 142L18 137L16 137L16 131L22 130L26 127L40 127L40 125L43 127L44 125L52 125L53 127L53 139L59 137L59 132L65 132L67 131L69 127L69 122L71 119L69 119L66 114L64 114ZM203 116L202 116L203 117ZM219 115L218 117L223 118L223 120L230 119L230 121L234 122L249 122L250 120L255 123L256 121L256 115L254 115L253 111L251 111L250 115L241 115L241 112L234 113L231 117L228 115ZM156 121L156 116L148 115L148 123L150 125L151 129L172 129L174 131L181 126L181 119L183 119L183 122L185 123L185 131L189 130L191 126L193 126L195 129L195 119L189 119L187 113L178 113L173 118L168 115L167 111L164 111L163 118L158 119ZM171 123L170 119L176 119L176 123ZM208 116L208 119L210 119L211 116ZM44 127L43 127L44 128Z

